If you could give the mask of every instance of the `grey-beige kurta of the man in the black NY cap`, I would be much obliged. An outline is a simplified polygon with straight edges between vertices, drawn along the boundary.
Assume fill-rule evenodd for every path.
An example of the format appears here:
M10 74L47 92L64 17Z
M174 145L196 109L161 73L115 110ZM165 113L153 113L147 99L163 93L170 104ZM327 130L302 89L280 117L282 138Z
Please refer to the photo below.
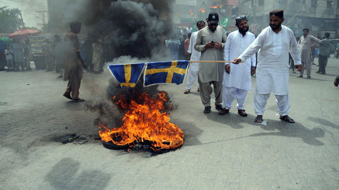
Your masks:
M194 49L201 52L200 60L224 60L224 46L226 43L226 33L221 27L212 32L207 26L200 29L197 36ZM222 44L221 49L208 48L205 49L205 44L209 42L219 42ZM199 64L199 80L201 83L210 81L223 82L225 64L223 63L200 63Z

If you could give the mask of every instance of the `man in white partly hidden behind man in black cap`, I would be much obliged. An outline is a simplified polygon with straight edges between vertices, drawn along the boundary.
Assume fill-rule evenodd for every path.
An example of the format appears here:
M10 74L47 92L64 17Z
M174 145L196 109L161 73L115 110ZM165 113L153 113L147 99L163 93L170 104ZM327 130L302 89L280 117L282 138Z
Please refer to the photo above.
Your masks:
M198 31L200 29L203 29L205 27L205 22L203 20L200 20L196 23L196 27L198 29ZM200 52L196 51L194 49L194 44L196 41L196 35L198 34L198 31L195 31L192 33L191 35L191 39L190 39L190 44L188 46L188 54L190 57L190 61L198 61L200 60ZM191 92L191 89L193 88L193 84L195 82L195 80L197 79L198 76L198 71L199 71L199 63L196 62L190 62L190 67L188 68L188 72L187 72L187 85L186 85L186 89L184 90L184 94L188 94ZM197 83L197 91L199 92L199 81L196 82Z

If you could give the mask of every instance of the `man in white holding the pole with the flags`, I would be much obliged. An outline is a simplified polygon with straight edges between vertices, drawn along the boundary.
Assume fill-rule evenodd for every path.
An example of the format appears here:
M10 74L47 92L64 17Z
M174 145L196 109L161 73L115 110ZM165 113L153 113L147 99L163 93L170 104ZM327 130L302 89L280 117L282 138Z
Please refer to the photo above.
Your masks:
M255 122L262 122L267 99L273 92L280 119L294 123L287 114L290 112L289 98L289 52L295 67L302 69L300 51L291 29L282 26L284 12L281 9L270 12L270 27L261 31L257 39L239 56L233 60L239 64L242 60L251 58L259 49L256 74L256 89L254 91ZM242 63L240 63L242 64Z

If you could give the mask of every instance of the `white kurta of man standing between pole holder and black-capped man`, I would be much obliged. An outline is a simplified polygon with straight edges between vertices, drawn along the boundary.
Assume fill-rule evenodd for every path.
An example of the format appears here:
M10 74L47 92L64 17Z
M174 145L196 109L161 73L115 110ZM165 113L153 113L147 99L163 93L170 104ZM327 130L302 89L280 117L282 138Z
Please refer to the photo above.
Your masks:
M245 49L252 44L256 39L253 33L246 32L246 35L242 37L239 30L231 32L227 36L227 41L224 49L224 60L233 61L235 58L239 58ZM229 64L229 63L226 63ZM251 90L251 66L256 66L256 55L248 58L245 62L236 64L229 64L230 73L224 72L225 87L234 87L243 90Z

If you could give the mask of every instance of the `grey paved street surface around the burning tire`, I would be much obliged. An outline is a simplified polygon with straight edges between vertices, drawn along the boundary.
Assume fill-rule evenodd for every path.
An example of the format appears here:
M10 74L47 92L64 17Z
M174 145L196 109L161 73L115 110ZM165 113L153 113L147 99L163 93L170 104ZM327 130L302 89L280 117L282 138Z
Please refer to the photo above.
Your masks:
M196 86L184 94L185 85L161 85L185 140L159 155L102 146L85 105L107 99L107 69L84 73L87 102L77 103L62 96L67 82L55 72L0 72L0 190L339 190L339 59L329 58L326 75L317 70L311 79L290 71L295 123L280 121L273 94L259 125L253 91L247 117L236 101L220 116L213 106L203 113Z

